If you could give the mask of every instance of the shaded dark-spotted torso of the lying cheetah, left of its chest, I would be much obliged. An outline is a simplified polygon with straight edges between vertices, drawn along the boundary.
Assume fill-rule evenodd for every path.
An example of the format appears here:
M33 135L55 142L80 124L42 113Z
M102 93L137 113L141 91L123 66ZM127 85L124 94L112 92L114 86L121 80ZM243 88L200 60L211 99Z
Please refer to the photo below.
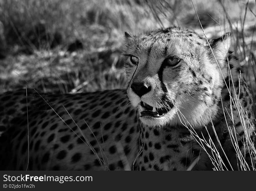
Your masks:
M1 136L1 169L25 170L28 162L33 170L123 169L115 142L129 164L135 159L129 156L137 149L138 121L136 111L122 102L125 91L39 96L19 90L6 92L2 100L7 98L17 110L2 105L6 113L1 116L8 116L2 122L8 120L9 127Z

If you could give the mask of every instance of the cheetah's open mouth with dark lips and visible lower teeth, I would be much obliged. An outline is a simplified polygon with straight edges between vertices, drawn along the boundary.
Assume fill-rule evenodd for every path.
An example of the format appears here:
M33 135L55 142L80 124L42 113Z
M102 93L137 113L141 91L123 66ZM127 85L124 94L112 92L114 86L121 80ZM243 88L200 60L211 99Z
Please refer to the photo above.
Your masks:
M173 103L169 103L169 107L155 108L147 103L141 101L139 107L141 109L141 117L151 116L151 117L163 117L168 111L173 108Z

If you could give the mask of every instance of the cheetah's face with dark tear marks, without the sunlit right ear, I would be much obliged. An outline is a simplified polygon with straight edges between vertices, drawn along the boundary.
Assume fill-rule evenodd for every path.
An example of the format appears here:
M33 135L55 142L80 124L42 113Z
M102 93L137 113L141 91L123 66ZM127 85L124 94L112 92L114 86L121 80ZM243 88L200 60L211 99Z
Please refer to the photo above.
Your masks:
M205 40L176 27L125 36L127 95L142 123L198 125L216 112L219 70Z

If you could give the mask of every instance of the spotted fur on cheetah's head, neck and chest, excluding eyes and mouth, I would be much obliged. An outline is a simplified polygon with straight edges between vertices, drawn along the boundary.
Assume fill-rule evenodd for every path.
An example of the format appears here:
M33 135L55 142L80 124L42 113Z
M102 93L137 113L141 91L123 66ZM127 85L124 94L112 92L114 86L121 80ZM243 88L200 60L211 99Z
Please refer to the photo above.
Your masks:
M137 57L138 64L131 63L130 56ZM166 65L165 60L170 57L179 58L179 63ZM209 44L199 35L179 27L126 35L124 58L129 81L127 95L135 108L140 110L138 105L141 101L155 108L174 105L162 117L138 116L142 127L140 145L144 145L140 169L185 170L199 155L200 160L194 169L211 169L211 161L188 128L194 129L202 139L209 140L210 135L217 150L221 150L212 123L232 163L227 167L237 169L236 151L230 141L228 127L235 129L232 134L238 140L242 153L247 153L253 145L245 149L244 129L255 142L255 126L252 96L244 79L239 78L241 67L230 50L230 33L211 40ZM150 87L150 91L142 96L136 94L131 88L134 83ZM235 104L237 100L241 107ZM158 133L154 133L156 131ZM149 159L152 153L155 165ZM223 152L220 154L225 158ZM250 160L248 163L252 166Z

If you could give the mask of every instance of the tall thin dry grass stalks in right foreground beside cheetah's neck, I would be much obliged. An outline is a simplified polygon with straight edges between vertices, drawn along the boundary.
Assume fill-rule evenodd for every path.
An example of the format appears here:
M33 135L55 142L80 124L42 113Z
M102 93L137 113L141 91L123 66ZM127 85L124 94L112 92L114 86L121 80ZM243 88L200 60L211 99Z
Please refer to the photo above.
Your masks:
M192 0L191 0L191 2L193 4ZM223 3L221 1L220 1L220 3L223 6L225 15L227 16L228 23L230 24L230 28L231 28L231 30L233 30L232 22L230 21L230 18L228 17L228 12L225 10L225 6L223 5ZM248 3L249 3L249 1L247 1L246 5L245 5L245 14L244 14L244 17L243 17L243 22L241 22L241 24L242 24L241 38L242 38L242 42L243 42L243 44L242 44L243 49L240 49L240 53L243 54L243 60L246 60L247 56L248 55L250 56L250 52L252 52L252 45L251 45L251 49L248 49L248 46L246 45L245 40L244 40L244 26L245 26ZM256 3L256 1L255 1L255 3ZM193 8L194 8L195 13L198 17L198 14L197 14L197 11L195 9L194 4L193 4ZM221 21L221 19L219 19L219 20ZM200 26L202 28L202 31L205 35L205 38L206 38L206 40L209 44L209 41L207 39L207 36L205 34L204 28L203 28L203 26L200 22L199 17L198 17L198 21L199 21ZM218 24L220 26L220 31L222 33L221 22L219 22ZM228 25L227 25L227 28L228 28ZM238 38L238 36L236 36L235 40L236 40L236 42L238 42L240 39ZM253 42L253 39L252 39L252 42ZM210 44L209 44L209 46L210 46ZM210 49L211 49L211 46L210 46ZM237 47L236 47L236 50L237 50ZM212 49L211 49L211 51L212 51ZM213 53L213 51L212 51L212 53ZM214 55L214 53L213 53L213 55ZM214 56L214 58L215 58L215 56ZM215 61L218 64L216 58L215 58ZM247 62L250 63L252 61L247 59ZM248 63L247 63L247 65L248 65ZM246 64L246 63L244 63L244 64ZM252 67L253 67L253 65L252 65ZM253 70L253 72L254 72L254 70ZM221 74L222 74L222 72L221 72ZM255 72L254 72L254 77L255 77ZM239 78L239 83L240 83L241 72L240 72L240 74L238 74L238 78ZM231 71L230 71L230 67L229 67L229 79L233 79ZM223 77L223 80L224 80L224 77ZM233 80L232 80L231 86L230 86L230 84L229 84L229 86L227 84L225 84L225 85L227 86L227 89L229 90L229 93L231 92L231 89L234 88ZM234 92L236 92L235 89L234 89ZM243 131L245 132L245 136L243 136L241 138L238 135L234 125L229 126L229 124L227 123L227 119L230 119L232 124L234 124L233 109L231 109L230 113L227 112L228 116L226 116L225 111L227 111L227 108L224 108L223 103L222 103L223 114L224 114L224 117L225 117L225 120L226 120L226 125L227 125L227 129L228 129L228 132L229 132L229 135L230 135L230 138L231 138L232 145L233 145L234 150L236 152L237 169L239 169L239 170L256 170L256 168L255 168L256 148L254 147L253 140L251 140L251 138L250 138L250 132L255 134L255 131L252 127L252 124L250 124L250 122L249 122L247 112L244 111L243 107L241 106L241 103L239 101L239 92L240 92L240 84L239 84L238 94L235 93L234 98L232 98L231 93L230 93L230 108L236 108L236 112L237 112L238 117L241 121ZM232 105L234 105L234 107L232 107ZM185 116L182 115L182 113L179 112L179 115L181 116L180 119L183 122L184 126L186 126L188 128L188 130L191 132L191 135L193 136L193 138L195 138L195 140L198 141L198 144L200 144L200 146L203 148L203 150L209 156L209 158L210 158L210 160L213 164L213 170L228 170L229 168L233 170L231 162L229 161L229 159L227 157L227 154L225 153L225 151L224 151L224 149L221 145L221 142L220 142L220 140L217 136L217 133L216 133L216 130L215 130L215 127L214 127L214 124L213 124L212 120L211 120L212 129L213 129L214 134L216 136L217 142L214 142L213 139L211 138L206 125L205 125L205 129L206 129L208 135L205 135L205 136L209 137L209 140L207 140L203 134L202 134L202 136L198 135L196 130L191 125L187 126L186 125L187 120L186 120ZM243 141L244 153L242 153L242 151L239 147L238 139ZM216 144L218 144L218 145L216 145ZM219 148L221 148L221 151L219 151ZM249 163L248 163L248 160L246 160L246 151L249 152L249 154L250 154ZM225 160L227 160L227 163L224 162ZM229 165L229 167L226 166L227 164Z

